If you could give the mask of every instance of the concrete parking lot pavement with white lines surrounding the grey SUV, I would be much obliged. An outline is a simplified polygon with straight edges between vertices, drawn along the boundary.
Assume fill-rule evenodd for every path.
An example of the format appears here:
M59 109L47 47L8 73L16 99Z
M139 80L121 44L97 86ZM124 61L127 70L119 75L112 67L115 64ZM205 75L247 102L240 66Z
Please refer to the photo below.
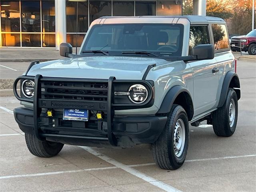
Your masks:
M9 67L14 70L0 68L4 78L22 74L18 63ZM212 126L190 126L186 162L175 171L158 168L146 145L128 149L65 145L56 157L35 157L12 114L20 106L18 100L1 97L0 191L254 192L256 64L238 61L237 72L242 96L235 134L222 138L214 134Z

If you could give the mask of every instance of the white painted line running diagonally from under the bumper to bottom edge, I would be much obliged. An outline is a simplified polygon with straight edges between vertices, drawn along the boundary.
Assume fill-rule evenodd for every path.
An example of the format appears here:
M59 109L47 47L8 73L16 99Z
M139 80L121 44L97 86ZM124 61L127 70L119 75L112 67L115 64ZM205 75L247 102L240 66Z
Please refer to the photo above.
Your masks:
M150 177L150 176L148 176L148 175L146 175L146 174L144 174L144 173L142 173L142 172L140 172L140 171L138 171L134 168L131 168L130 166L122 164L121 162L118 162L118 161L116 161L116 160L114 160L114 159L112 159L112 158L110 158L110 157L108 157L108 156L106 156L102 153L99 153L99 152L93 150L90 147L84 147L84 146L80 146L80 147L82 149L86 150L87 152L89 152L90 154L93 154L94 156L97 156L98 158L100 158L100 159L102 159L102 160L104 160L104 161L106 161L106 162L108 162L108 163L110 163L110 164L112 164L112 165L114 165L114 166L116 166L116 167L118 167L118 168L120 168L120 169L122 169L122 170L124 170L124 171L126 171L126 172L128 172L128 173L130 173L130 174L132 174L132 175L134 175L134 176L136 176L136 177L138 177L138 178L140 178L140 179L142 179L142 180L160 188L160 189L162 189L162 190L165 190L165 191L168 191L168 192L181 192L180 190L178 190L178 189L176 189L176 188L174 188L174 187L172 187L168 184L165 184L164 182L161 182L161 181L159 181L155 178L152 178L152 177Z

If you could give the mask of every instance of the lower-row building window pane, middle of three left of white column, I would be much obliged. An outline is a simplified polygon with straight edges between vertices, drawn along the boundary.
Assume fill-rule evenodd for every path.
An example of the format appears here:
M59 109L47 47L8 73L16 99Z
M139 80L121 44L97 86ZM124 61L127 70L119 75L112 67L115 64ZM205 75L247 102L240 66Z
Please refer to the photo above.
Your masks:
M22 47L41 47L41 34L22 34Z

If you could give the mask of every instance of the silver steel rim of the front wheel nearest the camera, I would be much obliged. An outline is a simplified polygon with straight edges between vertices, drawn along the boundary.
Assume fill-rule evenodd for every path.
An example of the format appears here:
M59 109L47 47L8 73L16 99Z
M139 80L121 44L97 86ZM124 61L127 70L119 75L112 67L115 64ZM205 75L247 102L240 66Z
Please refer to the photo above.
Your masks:
M180 157L185 146L185 124L182 119L178 119L174 130L174 153L176 157Z

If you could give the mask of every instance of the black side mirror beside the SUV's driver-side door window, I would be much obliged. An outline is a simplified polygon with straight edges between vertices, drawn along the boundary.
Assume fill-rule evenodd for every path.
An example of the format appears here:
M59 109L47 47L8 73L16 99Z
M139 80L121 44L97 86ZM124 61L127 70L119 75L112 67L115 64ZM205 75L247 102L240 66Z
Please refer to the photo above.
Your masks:
M192 48L192 55L197 56L198 60L214 58L214 46L212 44L197 45Z

